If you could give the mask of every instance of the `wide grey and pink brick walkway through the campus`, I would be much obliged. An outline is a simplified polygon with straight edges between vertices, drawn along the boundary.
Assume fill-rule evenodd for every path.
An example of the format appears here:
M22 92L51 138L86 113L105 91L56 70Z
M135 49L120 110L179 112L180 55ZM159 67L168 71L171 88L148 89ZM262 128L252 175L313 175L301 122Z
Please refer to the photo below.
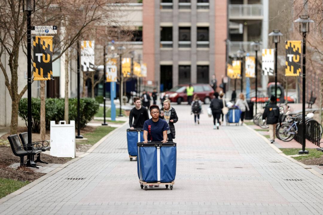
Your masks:
M1 204L0 213L321 214L321 178L246 126L213 130L206 114L195 126L188 105L174 107L179 121L172 191L140 189L124 126L89 155Z

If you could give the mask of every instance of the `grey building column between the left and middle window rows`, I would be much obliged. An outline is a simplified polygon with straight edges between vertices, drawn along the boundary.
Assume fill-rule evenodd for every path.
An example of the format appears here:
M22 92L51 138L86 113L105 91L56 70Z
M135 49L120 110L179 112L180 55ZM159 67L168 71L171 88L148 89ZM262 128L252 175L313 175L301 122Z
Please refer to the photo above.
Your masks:
M178 4L173 5L173 87L178 85Z

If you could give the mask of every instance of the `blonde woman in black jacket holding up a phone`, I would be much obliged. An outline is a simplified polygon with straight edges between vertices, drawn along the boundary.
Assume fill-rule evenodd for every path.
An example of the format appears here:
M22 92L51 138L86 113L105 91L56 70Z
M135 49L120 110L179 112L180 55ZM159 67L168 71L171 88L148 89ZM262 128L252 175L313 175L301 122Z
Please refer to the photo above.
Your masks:
M163 107L160 109L159 118L165 120L168 123L170 130L167 131L167 137L168 141L172 142L173 139L175 139L174 123L178 121L178 117L175 109L171 107L170 100L167 99L163 102Z

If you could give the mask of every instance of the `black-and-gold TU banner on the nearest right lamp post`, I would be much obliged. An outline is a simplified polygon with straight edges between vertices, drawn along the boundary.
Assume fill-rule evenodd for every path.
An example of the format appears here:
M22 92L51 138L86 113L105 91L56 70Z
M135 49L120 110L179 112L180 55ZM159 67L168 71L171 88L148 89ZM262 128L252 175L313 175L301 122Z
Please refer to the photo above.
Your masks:
M301 72L301 43L300 40L286 41L285 76L299 76Z

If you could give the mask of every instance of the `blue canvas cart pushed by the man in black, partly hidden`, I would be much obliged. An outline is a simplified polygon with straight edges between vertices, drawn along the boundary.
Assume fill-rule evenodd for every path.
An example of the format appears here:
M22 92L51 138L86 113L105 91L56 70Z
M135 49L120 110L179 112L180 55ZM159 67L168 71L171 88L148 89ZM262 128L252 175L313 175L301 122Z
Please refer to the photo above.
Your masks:
M143 141L143 130L142 128L127 129L127 143L128 143L128 153L130 161L133 158L137 158L137 142Z

